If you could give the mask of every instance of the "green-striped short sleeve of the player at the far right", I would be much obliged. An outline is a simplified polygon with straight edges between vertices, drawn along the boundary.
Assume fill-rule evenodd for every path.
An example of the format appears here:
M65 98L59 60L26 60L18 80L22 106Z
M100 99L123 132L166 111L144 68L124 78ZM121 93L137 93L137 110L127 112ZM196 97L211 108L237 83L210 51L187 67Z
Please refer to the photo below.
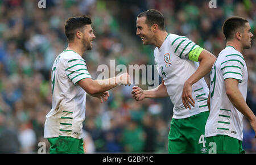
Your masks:
M240 54L227 54L221 63L221 71L224 80L228 78L237 79L238 83L242 82L242 70L245 66L245 60Z

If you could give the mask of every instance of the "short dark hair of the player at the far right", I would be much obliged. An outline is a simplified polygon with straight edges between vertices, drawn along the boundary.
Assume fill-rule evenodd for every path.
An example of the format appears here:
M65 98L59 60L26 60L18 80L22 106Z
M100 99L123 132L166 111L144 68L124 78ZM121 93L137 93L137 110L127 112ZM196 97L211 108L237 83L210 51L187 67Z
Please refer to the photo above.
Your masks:
M225 20L222 26L222 32L226 40L232 40L238 31L242 31L248 21L240 16L232 16Z

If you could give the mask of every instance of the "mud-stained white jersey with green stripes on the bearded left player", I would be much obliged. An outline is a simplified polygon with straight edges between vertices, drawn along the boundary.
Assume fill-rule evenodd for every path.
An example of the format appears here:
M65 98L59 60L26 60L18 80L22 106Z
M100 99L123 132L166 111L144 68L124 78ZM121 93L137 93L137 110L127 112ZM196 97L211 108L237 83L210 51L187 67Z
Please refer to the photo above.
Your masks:
M52 66L52 109L46 116L44 138L82 138L86 92L77 85L92 78L85 61L72 50L64 50Z

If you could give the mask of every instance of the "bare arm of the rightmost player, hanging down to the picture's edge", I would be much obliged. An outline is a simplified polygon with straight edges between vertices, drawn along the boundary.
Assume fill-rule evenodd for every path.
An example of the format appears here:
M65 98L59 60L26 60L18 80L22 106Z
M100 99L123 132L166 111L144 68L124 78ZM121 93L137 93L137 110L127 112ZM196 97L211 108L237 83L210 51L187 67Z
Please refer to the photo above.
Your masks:
M251 109L246 104L245 99L238 89L238 81L233 78L225 79L226 95L232 104L240 111L243 115L249 119L251 127L256 132L256 117ZM255 136L256 137L256 136Z

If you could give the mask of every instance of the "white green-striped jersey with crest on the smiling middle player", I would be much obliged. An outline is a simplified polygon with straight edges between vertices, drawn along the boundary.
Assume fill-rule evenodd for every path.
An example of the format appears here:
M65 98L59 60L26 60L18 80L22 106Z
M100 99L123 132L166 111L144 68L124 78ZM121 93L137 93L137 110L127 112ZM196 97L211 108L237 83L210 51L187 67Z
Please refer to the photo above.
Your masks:
M188 54L198 47L199 45L187 37L169 34L160 48L156 47L154 50L159 75L163 78L168 95L174 104L174 119L184 119L208 111L209 88L204 78L192 85L192 97L196 101L195 107L191 105L192 109L185 109L181 99L185 81L199 67L199 62L189 60Z

